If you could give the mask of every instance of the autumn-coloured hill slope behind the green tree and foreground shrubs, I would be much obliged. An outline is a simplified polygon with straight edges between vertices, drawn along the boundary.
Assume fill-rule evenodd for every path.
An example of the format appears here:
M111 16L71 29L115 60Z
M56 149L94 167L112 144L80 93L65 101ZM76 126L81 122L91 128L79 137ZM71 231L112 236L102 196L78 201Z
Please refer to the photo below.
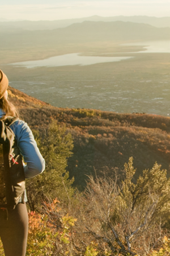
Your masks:
M67 126L74 138L74 154L68 161L70 177L82 189L87 175L124 179L124 163L130 156L137 168L135 179L157 161L170 176L170 118L151 114L117 114L90 109L55 108L9 88L9 97L31 129L40 133L52 119Z

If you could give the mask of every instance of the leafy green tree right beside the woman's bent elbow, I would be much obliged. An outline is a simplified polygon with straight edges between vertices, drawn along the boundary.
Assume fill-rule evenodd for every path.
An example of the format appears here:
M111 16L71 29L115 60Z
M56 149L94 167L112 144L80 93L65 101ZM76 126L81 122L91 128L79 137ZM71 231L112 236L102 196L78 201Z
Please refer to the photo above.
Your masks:
M67 159L71 156L73 139L70 133L66 133L65 126L57 125L53 121L48 130L43 133L33 131L40 152L45 159L46 167L43 174L27 180L27 197L31 210L39 207L40 202L46 196L54 199L66 199L73 193L66 171Z

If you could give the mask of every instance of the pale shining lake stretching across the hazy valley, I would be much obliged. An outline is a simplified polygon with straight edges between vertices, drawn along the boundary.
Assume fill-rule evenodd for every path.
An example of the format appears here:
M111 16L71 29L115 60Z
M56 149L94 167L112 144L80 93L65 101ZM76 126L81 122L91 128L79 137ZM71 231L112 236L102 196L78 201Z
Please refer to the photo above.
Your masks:
M142 51L131 53L170 53L170 41L148 41L122 44L122 46L144 46ZM129 53L129 52L126 52ZM16 67L36 68L36 67L61 67L67 65L93 65L97 63L116 62L121 60L128 60L132 56L83 56L82 53L69 53L50 57L44 60L31 60L18 63L12 63Z

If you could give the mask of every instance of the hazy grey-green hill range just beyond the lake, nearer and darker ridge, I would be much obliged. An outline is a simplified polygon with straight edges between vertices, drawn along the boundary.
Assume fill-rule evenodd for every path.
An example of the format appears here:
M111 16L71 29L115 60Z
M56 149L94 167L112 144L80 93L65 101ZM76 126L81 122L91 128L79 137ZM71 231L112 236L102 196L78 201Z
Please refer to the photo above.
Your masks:
M0 47L50 47L66 43L169 40L170 28L132 22L83 22L66 28L42 31L1 32Z

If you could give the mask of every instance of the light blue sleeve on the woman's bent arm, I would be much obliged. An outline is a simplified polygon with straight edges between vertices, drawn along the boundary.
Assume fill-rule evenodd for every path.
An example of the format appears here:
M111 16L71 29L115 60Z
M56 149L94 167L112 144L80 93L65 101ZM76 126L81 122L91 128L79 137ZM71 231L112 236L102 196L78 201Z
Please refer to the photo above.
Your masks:
M25 178L29 179L41 174L45 169L45 160L40 154L37 143L33 138L33 134L27 123L21 120L15 121L11 126L14 131L17 146L20 154L23 155Z

